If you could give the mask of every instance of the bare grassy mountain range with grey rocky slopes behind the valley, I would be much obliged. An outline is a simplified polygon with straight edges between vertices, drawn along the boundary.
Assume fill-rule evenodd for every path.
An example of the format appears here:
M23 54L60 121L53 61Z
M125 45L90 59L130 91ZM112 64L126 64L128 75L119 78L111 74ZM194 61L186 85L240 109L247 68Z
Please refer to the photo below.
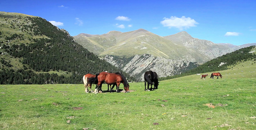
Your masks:
M236 47L193 38L187 32L162 37L145 29L94 36L81 33L74 39L139 81L144 71L156 71L160 77L177 75L233 52Z

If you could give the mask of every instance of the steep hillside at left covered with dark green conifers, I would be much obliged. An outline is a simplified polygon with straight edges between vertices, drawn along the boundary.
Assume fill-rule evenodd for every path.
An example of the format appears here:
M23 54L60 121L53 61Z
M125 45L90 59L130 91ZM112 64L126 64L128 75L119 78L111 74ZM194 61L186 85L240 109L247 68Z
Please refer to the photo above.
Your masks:
M82 83L82 76L122 72L40 17L0 12L0 84Z

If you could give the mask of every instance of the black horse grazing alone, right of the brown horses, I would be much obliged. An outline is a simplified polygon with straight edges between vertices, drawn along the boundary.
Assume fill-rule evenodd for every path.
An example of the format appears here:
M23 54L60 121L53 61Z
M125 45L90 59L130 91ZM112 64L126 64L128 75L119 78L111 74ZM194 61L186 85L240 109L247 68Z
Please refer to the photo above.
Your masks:
M154 89L158 89L158 74L154 71L146 71L144 74L144 82L145 82L145 91L152 90L152 84L154 82ZM146 85L148 82L148 89L146 89ZM149 84L151 84L151 88L149 89Z

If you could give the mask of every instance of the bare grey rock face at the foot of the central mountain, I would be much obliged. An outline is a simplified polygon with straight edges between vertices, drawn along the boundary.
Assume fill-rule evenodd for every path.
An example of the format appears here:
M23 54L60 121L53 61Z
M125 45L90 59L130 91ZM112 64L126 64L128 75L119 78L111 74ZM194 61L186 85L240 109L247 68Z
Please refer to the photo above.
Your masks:
M138 78L138 81L144 80L144 72L147 70L157 72L159 77L166 77L180 74L183 71L194 68L197 63L180 60L166 59L153 55L143 54L135 55L131 58L120 58L113 55L106 55L107 62Z

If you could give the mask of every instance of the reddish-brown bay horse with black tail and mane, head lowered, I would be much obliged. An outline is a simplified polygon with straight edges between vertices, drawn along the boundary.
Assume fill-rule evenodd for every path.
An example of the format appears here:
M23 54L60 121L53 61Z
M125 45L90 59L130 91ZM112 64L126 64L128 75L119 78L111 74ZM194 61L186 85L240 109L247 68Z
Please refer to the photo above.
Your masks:
M89 78L89 81L98 82L95 88L95 94L98 93L100 86L104 83L106 84L114 84L116 85L116 91L119 91L119 85L122 83L124 84L124 89L128 93L129 92L129 84L126 80L125 76L120 73L108 73L108 72L100 72L96 74L95 78ZM111 88L111 87L110 87ZM111 88L112 91L112 88Z

